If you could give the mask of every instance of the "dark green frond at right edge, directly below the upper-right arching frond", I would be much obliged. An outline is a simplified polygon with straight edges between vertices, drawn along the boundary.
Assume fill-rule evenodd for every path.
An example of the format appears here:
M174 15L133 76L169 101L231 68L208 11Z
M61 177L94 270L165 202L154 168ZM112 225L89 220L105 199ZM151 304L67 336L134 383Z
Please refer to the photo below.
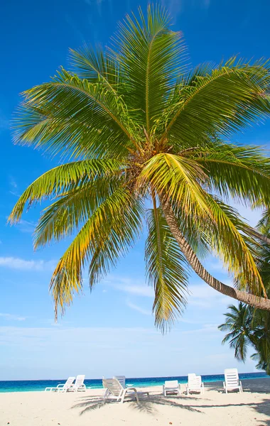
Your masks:
M269 205L270 160L260 148L232 143L208 143L193 151L193 160L202 165L210 184L222 197Z

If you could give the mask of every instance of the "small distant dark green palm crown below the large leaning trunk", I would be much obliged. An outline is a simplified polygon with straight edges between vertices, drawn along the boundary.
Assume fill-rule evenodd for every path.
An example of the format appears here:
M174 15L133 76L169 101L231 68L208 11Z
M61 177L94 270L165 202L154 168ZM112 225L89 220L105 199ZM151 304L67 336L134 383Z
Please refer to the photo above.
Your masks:
M225 314L226 321L218 328L222 332L229 331L222 340L222 344L229 342L229 347L234 349L234 356L239 361L247 358L247 347L253 340L252 308L239 302L238 307L229 305L229 312Z

